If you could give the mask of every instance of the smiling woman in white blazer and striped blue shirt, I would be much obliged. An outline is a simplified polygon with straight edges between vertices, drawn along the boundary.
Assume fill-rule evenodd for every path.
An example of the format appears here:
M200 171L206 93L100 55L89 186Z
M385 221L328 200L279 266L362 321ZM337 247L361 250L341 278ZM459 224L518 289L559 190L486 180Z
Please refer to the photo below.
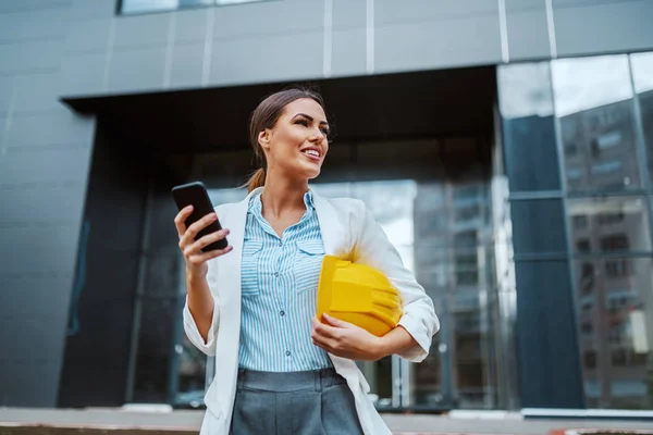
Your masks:
M247 198L185 227L184 328L215 356L201 434L389 434L355 360L398 355L419 362L439 328L433 303L364 203L315 195L329 151L321 97L289 89L254 111L250 141L261 162ZM195 241L220 216L223 231ZM227 229L229 228L229 229ZM227 237L221 251L201 248ZM315 319L324 254L377 268L402 295L399 325L377 337L324 315Z

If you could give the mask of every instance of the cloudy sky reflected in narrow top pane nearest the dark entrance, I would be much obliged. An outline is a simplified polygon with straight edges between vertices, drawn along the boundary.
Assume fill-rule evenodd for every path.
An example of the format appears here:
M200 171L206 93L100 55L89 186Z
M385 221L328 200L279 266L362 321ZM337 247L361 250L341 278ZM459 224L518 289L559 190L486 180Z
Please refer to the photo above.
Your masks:
M502 65L497 82L503 117L553 114L549 62Z

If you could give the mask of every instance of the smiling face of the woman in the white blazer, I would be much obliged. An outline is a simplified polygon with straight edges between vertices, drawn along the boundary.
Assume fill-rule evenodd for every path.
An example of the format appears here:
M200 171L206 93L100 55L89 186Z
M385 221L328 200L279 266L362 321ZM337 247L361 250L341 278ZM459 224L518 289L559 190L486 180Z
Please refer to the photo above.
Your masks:
M259 134L268 171L312 179L329 151L329 124L322 107L310 98L288 103L273 128Z

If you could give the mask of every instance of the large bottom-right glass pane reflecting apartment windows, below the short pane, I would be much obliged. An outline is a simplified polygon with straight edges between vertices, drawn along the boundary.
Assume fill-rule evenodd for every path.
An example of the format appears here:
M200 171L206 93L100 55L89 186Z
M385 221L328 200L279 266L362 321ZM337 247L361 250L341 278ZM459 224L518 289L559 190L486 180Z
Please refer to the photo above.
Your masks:
M651 409L652 259L577 260L575 266L588 406Z

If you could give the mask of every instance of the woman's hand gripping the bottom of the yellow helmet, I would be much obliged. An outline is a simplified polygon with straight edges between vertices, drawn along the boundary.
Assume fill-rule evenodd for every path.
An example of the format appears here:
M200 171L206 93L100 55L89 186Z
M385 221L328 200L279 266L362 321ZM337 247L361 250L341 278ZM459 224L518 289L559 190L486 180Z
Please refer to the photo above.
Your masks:
M322 319L313 318L310 333L313 345L321 347L336 357L357 361L377 361L384 357L381 350L381 338L364 328L343 322L328 314Z

